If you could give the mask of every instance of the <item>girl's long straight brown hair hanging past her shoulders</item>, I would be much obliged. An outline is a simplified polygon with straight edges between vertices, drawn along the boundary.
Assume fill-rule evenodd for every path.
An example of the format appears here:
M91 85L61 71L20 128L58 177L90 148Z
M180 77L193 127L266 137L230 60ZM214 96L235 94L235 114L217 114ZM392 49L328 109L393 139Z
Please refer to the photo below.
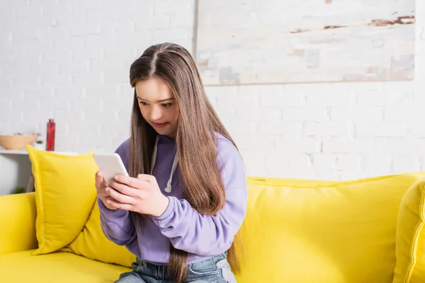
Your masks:
M200 214L215 215L225 204L225 187L217 166L215 133L222 134L234 146L236 144L205 95L198 69L188 50L168 42L147 48L130 67L130 84L134 88L137 81L154 76L169 85L179 107L176 147L184 197ZM131 117L131 176L151 172L156 136L157 132L142 117L135 96ZM137 214L136 219L146 221L146 216ZM239 270L235 250L237 240L235 236L232 246L227 250L229 264L234 272ZM178 283L186 277L187 258L186 251L171 245L169 268Z

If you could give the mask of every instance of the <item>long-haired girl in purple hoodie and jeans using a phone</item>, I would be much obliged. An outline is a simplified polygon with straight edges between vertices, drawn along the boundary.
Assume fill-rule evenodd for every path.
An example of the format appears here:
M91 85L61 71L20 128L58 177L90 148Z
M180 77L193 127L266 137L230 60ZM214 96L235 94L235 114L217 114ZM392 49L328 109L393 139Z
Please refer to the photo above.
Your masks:
M115 151L130 177L106 184L96 173L103 233L136 255L116 282L236 282L246 176L193 57L153 45L132 63L130 84L131 135Z

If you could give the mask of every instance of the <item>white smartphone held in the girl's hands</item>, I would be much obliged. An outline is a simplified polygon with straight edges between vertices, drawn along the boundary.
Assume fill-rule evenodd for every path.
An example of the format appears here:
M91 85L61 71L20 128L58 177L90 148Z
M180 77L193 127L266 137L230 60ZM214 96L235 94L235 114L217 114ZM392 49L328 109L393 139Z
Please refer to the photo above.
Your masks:
M128 176L127 169L125 169L124 163L121 157L115 153L94 153L94 160L100 171L103 173L103 178L106 183L115 177L115 175Z

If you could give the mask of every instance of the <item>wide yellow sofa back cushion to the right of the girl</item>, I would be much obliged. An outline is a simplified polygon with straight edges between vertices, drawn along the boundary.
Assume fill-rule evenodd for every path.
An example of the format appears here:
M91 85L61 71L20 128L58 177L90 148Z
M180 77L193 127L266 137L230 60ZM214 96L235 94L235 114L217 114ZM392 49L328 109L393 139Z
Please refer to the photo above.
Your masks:
M424 174L249 178L238 282L392 282L399 204Z

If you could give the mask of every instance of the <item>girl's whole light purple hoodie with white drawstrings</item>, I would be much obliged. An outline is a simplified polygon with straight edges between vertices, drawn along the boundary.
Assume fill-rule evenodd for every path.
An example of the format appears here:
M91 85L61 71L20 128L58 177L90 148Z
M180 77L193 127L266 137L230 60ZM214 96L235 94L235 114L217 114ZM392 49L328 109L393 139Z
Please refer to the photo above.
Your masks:
M169 262L170 245L189 253L188 263L198 262L224 253L231 245L246 214L248 192L246 175L239 151L231 141L217 137L217 164L226 190L225 206L215 216L199 214L183 199L180 169L172 172L176 143L159 135L157 158L152 175L157 178L162 193L169 198L169 206L159 217L149 215L143 229L133 222L129 212L111 210L98 199L101 227L106 237L147 262L166 265ZM123 159L128 170L130 139L115 151ZM193 154L198 154L193 152ZM171 181L171 192L165 192Z

